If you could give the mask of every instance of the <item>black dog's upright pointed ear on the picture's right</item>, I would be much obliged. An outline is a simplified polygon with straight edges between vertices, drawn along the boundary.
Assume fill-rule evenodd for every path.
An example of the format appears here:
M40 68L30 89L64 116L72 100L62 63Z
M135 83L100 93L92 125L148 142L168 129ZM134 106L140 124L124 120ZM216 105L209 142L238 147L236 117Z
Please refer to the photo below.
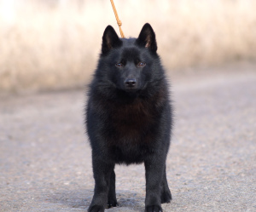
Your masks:
M143 26L142 31L137 37L137 44L148 48L151 52L156 53L157 44L153 28L147 23Z

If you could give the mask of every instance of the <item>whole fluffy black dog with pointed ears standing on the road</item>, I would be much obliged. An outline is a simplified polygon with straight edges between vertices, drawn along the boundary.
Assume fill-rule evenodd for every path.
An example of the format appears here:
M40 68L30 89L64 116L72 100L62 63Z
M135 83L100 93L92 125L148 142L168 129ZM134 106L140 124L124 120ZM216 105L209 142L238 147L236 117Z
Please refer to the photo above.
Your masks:
M144 163L146 211L162 211L172 195L166 180L172 108L152 27L139 37L119 38L112 26L89 89L86 126L92 148L95 190L89 212L117 205L114 165Z

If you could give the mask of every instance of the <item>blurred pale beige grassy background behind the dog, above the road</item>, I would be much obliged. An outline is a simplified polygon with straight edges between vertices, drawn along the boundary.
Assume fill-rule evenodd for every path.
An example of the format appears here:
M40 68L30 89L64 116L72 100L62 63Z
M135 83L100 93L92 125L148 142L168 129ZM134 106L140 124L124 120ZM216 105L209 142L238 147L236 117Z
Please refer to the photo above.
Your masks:
M168 72L256 61L254 0L114 3L125 37L153 26ZM0 92L84 87L108 25L119 34L108 0L0 0Z

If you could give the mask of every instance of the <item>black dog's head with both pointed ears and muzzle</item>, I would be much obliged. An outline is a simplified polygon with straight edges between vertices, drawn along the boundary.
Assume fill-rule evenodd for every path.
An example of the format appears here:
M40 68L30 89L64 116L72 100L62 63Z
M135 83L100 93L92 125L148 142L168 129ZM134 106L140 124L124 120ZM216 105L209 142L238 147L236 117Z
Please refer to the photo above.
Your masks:
M102 37L99 72L116 89L136 93L145 89L152 78L157 79L160 59L153 28L147 23L137 38L119 38L112 26Z

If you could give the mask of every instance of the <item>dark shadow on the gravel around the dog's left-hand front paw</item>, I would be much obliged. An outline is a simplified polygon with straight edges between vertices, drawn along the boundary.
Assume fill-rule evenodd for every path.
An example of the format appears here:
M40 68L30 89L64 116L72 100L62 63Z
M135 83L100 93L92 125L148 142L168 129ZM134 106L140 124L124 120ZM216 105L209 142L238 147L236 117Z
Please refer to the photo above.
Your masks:
M117 191L117 200L119 203L118 207L106 209L106 212L112 211L144 211L144 195L135 192ZM48 201L50 203L61 203L62 205L67 205L68 208L74 209L83 209L87 211L90 206L91 199L93 197L92 190L61 190L56 191L48 196Z

